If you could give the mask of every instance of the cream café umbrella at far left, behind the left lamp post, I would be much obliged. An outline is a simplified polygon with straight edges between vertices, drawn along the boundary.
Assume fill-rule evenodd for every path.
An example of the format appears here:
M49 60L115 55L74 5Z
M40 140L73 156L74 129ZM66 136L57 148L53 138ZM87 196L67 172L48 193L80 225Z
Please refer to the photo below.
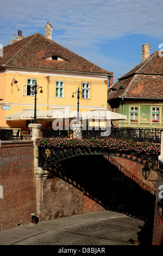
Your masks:
M45 117L45 112L40 109L36 109L37 119L41 119ZM18 111L13 114L5 115L5 120L31 120L34 119L34 108L27 108L21 111Z

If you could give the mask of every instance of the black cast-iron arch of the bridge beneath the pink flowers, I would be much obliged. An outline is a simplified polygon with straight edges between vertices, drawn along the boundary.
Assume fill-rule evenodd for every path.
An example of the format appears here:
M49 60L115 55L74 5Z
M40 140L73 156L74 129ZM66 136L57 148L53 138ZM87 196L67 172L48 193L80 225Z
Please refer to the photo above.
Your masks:
M158 172L158 155L146 156L142 154L136 154L132 152L116 151L107 148L51 148L51 147L39 147L39 167L43 170L51 172L52 167L60 161L64 161L76 156L84 155L108 155L114 157L121 157L126 160L130 160L142 166L146 166L149 169Z

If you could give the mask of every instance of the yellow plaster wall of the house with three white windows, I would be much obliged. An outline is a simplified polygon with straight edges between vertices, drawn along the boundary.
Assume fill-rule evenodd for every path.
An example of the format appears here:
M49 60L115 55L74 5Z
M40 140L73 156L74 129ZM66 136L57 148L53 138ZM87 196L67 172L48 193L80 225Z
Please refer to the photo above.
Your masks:
M4 120L5 115L21 111L22 109L34 107L34 96L23 96L23 84L27 84L27 78L33 78L37 80L37 84L41 87L43 93L37 92L37 109L47 111L48 109L67 106L71 109L77 110L77 95L72 93L78 90L82 90L82 82L90 82L90 99L79 99L79 111L86 112L93 108L107 108L107 84L104 82L106 77L102 79L87 78L84 77L72 77L72 76L46 76L46 75L24 75L14 73L1 74L1 90L3 101L0 101L1 106L3 103L11 107L10 110L1 109L0 112L0 126L24 126L24 121L9 122ZM17 83L12 83L13 79L17 80ZM64 98L55 97L55 81L64 81ZM0 94L0 95L1 95ZM3 102L3 103L2 103ZM57 105L57 106L55 106Z

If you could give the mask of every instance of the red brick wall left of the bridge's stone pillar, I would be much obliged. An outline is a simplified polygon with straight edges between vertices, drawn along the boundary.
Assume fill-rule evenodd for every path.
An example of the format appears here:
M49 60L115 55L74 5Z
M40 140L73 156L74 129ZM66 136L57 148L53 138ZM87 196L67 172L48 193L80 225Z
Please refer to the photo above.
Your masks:
M0 231L30 223L36 212L33 142L2 142L0 185Z

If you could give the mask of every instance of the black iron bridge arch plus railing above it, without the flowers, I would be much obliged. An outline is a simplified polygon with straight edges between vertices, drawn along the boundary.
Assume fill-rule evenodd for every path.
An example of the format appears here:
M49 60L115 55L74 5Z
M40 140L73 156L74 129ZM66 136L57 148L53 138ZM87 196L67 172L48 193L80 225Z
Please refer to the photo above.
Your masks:
M139 142L153 142L153 143L160 143L161 140L161 131L162 129L142 129L142 128L114 128L111 129L111 135L109 137L115 139L131 139L134 141ZM42 137L49 138L49 137L67 137L71 138L70 131L69 136L65 132L62 131L62 134L58 133L53 134L56 131L49 130L46 127L42 127ZM89 138L101 137L101 131L82 131L82 138L89 139ZM70 159L76 156L83 156L83 155L108 155L114 157L121 157L126 160L130 160L142 166L145 166L149 169L158 172L158 155L151 154L151 155L143 155L137 154L135 151L124 151L124 150L110 150L109 148L103 147L67 147L67 148L55 148L55 147L39 147L39 167L42 169L46 169L51 171L51 168L59 163L60 161L64 161L66 159Z

